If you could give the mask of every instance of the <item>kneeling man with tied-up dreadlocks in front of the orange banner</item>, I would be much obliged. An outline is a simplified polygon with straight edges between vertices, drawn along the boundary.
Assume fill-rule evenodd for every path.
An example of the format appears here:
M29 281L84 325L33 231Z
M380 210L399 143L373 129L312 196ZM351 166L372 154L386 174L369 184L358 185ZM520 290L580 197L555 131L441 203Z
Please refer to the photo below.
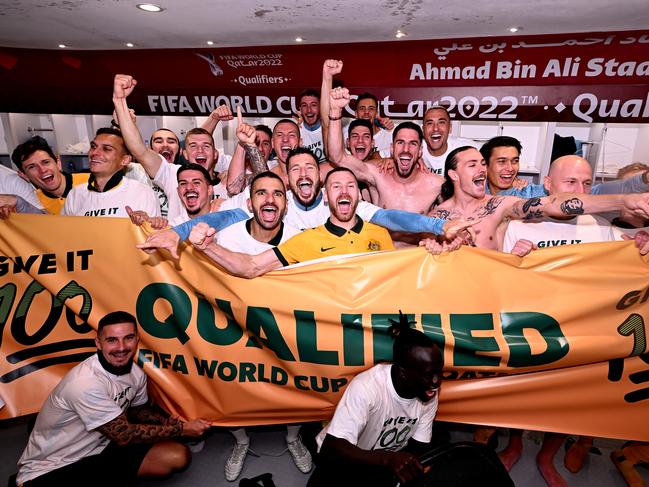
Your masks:
M317 436L309 487L392 486L424 473L418 455L431 440L442 354L405 316L389 329L393 363L356 376ZM405 451L403 451L405 449ZM391 475L392 474L392 475Z

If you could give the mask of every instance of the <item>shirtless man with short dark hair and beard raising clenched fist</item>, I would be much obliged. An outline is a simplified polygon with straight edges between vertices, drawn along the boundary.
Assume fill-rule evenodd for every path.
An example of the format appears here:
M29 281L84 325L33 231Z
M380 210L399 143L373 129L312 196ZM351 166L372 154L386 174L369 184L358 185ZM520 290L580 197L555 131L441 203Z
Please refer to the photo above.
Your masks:
M443 179L420 171L423 134L418 125L403 122L392 134L391 154L395 171L382 173L377 165L365 164L343 150L341 113L349 103L347 88L334 88L329 94L328 154L332 164L354 171L359 181L376 188L377 206L428 213L439 195Z

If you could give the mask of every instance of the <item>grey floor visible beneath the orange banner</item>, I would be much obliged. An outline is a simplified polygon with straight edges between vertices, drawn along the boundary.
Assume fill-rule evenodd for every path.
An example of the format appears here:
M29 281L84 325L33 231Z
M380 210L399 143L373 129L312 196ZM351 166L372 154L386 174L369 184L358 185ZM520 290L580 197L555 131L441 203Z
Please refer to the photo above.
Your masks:
M251 449L257 455L248 455L243 473L236 482L227 482L223 475L223 466L230 453L233 437L227 430L215 428L205 440L203 450L194 454L192 464L186 472L167 480L143 481L138 486L231 487L238 486L241 478L252 478L265 472L272 473L277 487L304 486L308 475L297 470L289 453L285 451L285 432L286 430L281 427L254 428L249 432ZM471 429L457 425L451 435L454 441L469 440ZM511 471L512 479L517 486L545 487L546 484L535 465L535 455L541 438L541 434L536 432L524 435L524 455ZM15 473L16 461L27 442L27 421L18 418L0 422L0 439L2 441L0 479L6 479ZM498 442L500 448L505 446L506 432L500 434ZM625 487L624 479L609 459L611 450L619 447L620 444L620 441L615 440L596 440L595 448L589 455L586 465L577 474L572 474L563 467L562 452L559 453L556 464L570 486ZM639 468L639 471L649 485L649 469Z

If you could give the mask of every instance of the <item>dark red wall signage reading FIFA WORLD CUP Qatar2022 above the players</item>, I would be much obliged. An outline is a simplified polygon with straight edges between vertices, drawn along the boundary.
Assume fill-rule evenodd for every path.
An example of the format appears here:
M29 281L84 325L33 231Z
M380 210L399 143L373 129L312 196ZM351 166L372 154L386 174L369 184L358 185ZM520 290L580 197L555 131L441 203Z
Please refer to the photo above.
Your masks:
M222 49L0 48L0 106L109 114L113 76L125 73L138 80L129 103L141 115L207 115L225 103L248 116L290 116L304 88L320 87L325 59L344 62L336 79L352 98L369 91L396 119L421 119L439 104L455 120L649 121L649 31Z

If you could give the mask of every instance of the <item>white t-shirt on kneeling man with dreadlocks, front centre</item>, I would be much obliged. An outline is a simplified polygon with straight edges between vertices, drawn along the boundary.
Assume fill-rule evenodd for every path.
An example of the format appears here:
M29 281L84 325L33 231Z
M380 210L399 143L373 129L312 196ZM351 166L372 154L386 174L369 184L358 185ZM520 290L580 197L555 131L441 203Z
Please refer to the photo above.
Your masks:
M331 422L318 434L318 450L327 434L362 450L399 451L413 438L430 442L438 395L430 401L404 399L390 377L391 364L378 364L351 381Z

